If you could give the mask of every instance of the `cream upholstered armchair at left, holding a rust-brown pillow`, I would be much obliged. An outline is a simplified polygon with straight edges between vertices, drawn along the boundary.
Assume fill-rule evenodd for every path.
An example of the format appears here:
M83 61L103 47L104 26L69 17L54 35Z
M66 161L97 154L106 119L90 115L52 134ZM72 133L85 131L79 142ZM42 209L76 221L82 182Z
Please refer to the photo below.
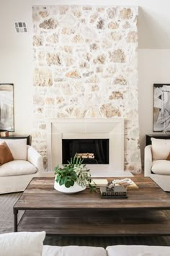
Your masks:
M0 194L24 191L34 176L41 176L43 171L42 156L27 145L27 139L10 140L6 142L14 161L0 166Z

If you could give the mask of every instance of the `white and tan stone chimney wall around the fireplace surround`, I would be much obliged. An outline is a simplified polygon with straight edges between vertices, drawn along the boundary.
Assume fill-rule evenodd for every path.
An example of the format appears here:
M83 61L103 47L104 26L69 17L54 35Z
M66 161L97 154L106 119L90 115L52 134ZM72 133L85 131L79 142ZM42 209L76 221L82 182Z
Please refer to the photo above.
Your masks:
M35 6L34 132L49 118L125 118L125 169L140 172L138 7Z

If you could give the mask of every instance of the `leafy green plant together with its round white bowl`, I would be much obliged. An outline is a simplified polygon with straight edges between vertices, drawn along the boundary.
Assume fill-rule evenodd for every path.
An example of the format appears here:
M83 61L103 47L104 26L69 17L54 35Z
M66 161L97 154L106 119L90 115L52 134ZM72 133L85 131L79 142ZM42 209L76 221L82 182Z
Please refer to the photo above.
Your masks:
M89 185L90 191L96 189L96 184L91 179L90 170L83 164L81 158L71 158L68 164L63 167L55 167L55 184L54 188L65 193L76 193L86 189ZM91 184L92 183L92 184Z

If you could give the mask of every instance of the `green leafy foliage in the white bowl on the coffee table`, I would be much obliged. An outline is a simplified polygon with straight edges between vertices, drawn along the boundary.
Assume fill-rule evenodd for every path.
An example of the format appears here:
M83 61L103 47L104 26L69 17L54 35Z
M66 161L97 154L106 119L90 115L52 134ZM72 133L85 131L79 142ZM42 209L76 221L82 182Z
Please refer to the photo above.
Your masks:
M76 158L76 155L68 161L68 164L63 164L60 168L56 166L55 170L55 182L65 187L71 187L77 182L81 187L89 185L90 191L96 190L96 184L91 179L90 170L86 168L86 164L83 164L81 158Z

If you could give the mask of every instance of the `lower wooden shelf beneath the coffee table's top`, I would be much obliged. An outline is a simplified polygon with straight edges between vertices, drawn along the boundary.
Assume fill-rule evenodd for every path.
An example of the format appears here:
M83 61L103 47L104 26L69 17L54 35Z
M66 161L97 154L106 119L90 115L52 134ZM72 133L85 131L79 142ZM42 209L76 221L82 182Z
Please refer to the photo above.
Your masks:
M43 230L58 236L164 236L170 235L170 220L162 210L27 210L18 231Z

